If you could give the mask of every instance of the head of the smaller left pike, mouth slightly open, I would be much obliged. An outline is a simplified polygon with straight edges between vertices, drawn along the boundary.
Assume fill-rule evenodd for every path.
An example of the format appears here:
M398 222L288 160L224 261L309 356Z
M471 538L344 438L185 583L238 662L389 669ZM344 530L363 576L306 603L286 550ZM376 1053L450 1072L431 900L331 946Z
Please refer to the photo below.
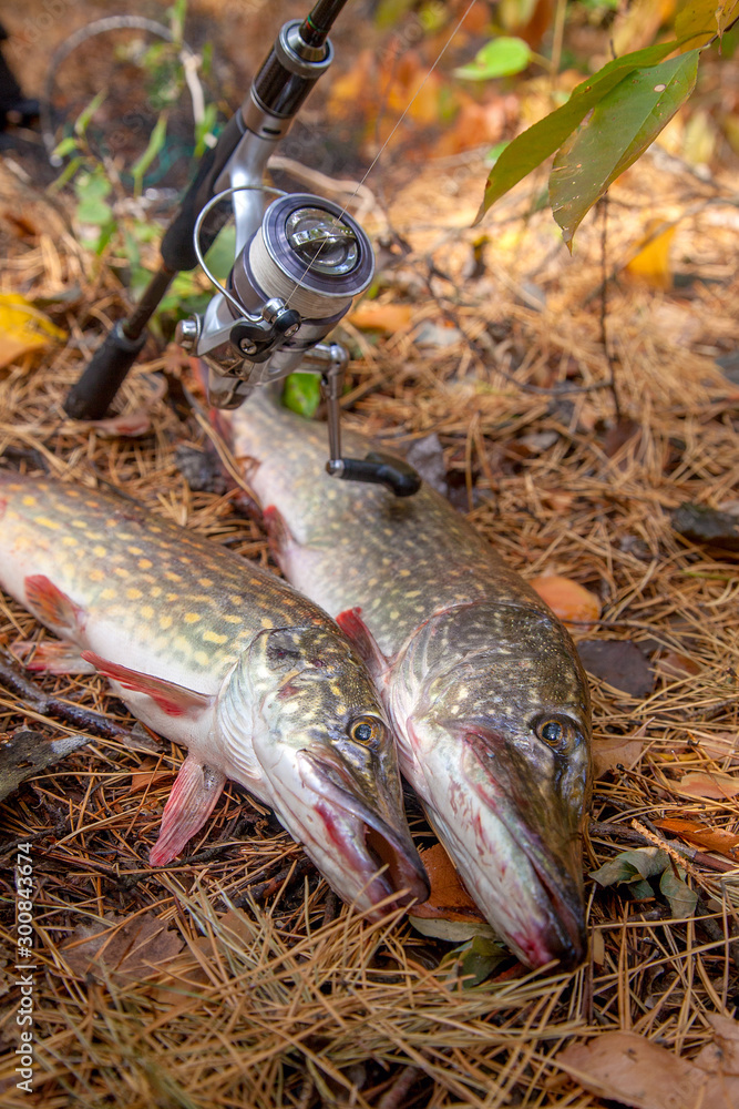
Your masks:
M355 649L328 621L271 629L253 643L248 672L261 716L254 750L294 838L373 918L425 901L394 742Z

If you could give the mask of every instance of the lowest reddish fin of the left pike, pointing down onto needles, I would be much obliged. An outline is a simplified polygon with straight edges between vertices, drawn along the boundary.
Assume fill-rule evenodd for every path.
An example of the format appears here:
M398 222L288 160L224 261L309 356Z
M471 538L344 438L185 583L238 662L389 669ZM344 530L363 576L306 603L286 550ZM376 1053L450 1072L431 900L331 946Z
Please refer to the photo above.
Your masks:
M187 755L162 814L160 835L148 854L152 866L164 866L179 854L215 807L226 775Z

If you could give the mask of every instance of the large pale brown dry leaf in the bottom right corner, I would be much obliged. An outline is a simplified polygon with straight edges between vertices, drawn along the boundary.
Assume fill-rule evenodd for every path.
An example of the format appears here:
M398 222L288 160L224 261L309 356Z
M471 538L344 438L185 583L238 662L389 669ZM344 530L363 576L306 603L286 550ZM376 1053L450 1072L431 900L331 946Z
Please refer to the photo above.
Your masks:
M632 1109L736 1109L739 1077L727 1069L722 1049L727 1040L731 1045L728 1061L733 1067L737 1030L725 1028L725 1024L736 1026L736 1021L722 1018L721 1051L701 1052L700 1065L634 1032L603 1032L587 1044L565 1048L556 1061L584 1089ZM718 1038L718 1027L716 1031Z

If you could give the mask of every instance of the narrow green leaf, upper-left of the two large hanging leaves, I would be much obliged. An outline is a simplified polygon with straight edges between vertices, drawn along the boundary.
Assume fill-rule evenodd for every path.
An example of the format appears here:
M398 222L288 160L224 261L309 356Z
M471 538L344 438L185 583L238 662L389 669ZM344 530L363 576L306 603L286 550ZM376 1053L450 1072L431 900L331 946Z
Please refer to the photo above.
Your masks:
M583 81L566 104L555 112L534 123L533 126L509 143L493 166L475 223L482 220L487 208L504 193L517 184L527 173L557 150L574 129L582 123L586 114L598 101L620 81L627 73L639 67L654 65L678 47L677 42L660 42L646 50L636 50L608 62L587 81Z

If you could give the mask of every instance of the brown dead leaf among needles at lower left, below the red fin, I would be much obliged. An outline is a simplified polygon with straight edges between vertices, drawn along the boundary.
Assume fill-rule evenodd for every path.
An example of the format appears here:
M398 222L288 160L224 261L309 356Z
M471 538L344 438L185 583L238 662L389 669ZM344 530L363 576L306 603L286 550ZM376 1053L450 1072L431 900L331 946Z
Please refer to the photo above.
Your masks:
M178 955L183 940L153 913L130 920L105 916L105 924L80 924L61 949L73 974L92 974L99 980L136 981L154 974L158 965Z

